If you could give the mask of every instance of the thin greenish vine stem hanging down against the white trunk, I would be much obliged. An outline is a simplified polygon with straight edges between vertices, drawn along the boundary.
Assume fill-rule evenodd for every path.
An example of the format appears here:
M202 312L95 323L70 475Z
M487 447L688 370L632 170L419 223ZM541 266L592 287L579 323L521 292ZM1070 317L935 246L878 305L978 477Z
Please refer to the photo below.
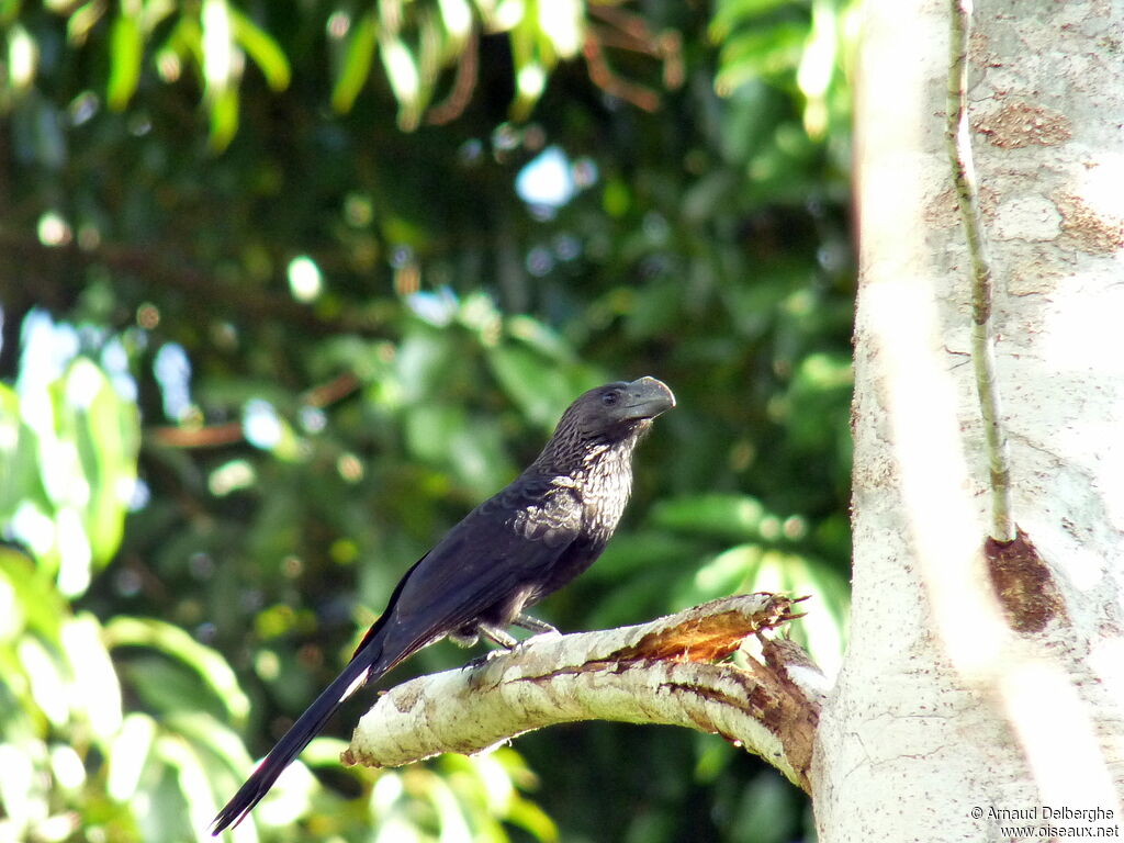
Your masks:
M968 239L972 272L972 365L984 417L991 489L991 537L1007 544L1015 541L1016 527L1010 504L1010 465L1007 434L1003 428L999 390L995 374L995 342L991 337L991 262L980 219L979 189L968 123L968 44L971 37L972 0L952 0L949 38L949 90L946 138L957 203Z

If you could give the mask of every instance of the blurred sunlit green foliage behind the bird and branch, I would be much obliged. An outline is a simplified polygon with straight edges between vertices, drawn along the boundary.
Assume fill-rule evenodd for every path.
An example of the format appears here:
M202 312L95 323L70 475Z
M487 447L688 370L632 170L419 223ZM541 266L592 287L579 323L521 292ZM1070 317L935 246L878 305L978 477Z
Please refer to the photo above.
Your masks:
M794 635L834 664L851 19L0 1L0 840L202 839L409 564L610 379L679 407L541 614L812 593ZM343 771L359 710L238 835L807 834L710 736L579 724Z

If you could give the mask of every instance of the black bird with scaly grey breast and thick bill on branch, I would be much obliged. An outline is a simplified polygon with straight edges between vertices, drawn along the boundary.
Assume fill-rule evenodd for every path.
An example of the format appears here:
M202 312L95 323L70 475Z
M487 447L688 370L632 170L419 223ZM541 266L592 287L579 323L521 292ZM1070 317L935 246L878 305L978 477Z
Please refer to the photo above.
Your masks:
M632 453L652 419L676 406L655 378L591 389L562 415L554 435L508 487L478 506L418 560L368 629L347 667L278 741L215 818L237 825L341 704L422 647L553 627L523 614L589 568L605 550L632 491Z

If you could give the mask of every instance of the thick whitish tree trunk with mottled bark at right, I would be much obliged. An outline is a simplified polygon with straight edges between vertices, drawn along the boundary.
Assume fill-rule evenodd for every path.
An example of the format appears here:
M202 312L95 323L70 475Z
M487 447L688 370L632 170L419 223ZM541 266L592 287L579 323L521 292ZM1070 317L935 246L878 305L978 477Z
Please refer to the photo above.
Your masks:
M817 825L832 842L1118 836L1124 2L975 10L997 388L1013 516L1039 554L990 561L944 138L951 13L936 0L865 9L853 614L817 735Z

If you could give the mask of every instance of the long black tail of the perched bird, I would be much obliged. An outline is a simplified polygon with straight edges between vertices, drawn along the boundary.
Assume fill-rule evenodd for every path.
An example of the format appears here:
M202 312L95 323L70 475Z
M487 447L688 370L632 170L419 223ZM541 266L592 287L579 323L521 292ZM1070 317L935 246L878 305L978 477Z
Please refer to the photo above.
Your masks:
M215 817L215 822L211 824L212 835L217 836L227 826L237 825L245 819L246 814L273 787L273 782L277 781L281 771L289 767L292 760L300 754L300 751L308 746L309 741L320 733L328 718L351 696L351 692L361 683L378 680L392 667L381 656L381 642L365 640L347 667L344 668L343 673L336 677L332 685L325 688L324 692L306 709L305 714L297 718L292 727L278 741L277 746L270 750L270 754L246 779L246 783Z

